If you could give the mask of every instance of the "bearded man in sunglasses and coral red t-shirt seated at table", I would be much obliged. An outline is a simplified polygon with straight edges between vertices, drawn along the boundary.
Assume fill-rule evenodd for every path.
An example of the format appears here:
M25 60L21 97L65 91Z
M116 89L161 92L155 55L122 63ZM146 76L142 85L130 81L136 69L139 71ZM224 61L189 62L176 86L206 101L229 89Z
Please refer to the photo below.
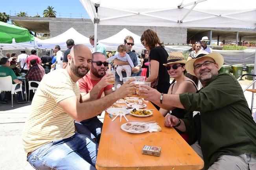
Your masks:
M78 80L82 97L80 103L99 99L103 92L105 96L112 93L113 84L110 82L111 80L114 81L114 78L112 78L113 76L105 75L107 65L108 62L104 54L101 52L92 54L91 70ZM78 133L96 138L96 141L99 142L103 123L97 116L81 122L75 121L75 125Z

